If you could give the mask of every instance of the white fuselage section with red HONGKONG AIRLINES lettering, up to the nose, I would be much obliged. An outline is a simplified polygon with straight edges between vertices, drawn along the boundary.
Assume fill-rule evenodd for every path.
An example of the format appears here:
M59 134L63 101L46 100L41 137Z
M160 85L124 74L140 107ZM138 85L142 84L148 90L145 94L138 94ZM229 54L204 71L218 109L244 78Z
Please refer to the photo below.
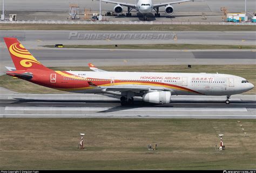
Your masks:
M109 79L113 86L159 86L172 95L233 95L249 91L254 86L246 79L218 73L153 73L153 72L89 72L67 71L92 79ZM92 81L93 82L93 81ZM100 88L73 91L100 93Z

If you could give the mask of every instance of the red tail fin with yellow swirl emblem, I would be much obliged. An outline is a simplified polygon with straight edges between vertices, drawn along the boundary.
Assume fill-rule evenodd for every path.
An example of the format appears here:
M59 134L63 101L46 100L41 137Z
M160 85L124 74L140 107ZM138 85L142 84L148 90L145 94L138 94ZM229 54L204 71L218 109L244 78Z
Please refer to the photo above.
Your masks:
M19 43L17 38L4 38L5 44L10 52L16 70L27 70L28 68L49 70L36 60L32 54Z

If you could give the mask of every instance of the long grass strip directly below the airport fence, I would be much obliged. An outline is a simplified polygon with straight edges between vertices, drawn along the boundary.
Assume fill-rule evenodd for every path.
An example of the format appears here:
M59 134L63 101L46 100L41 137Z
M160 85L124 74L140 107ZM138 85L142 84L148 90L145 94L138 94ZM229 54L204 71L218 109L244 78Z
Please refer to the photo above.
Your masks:
M250 25L0 24L0 30L255 31Z

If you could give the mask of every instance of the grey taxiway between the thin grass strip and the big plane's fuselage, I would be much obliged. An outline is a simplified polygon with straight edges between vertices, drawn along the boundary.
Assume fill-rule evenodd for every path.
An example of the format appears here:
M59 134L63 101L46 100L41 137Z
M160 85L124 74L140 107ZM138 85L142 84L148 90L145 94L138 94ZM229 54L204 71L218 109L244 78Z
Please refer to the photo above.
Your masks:
M256 52L251 50L109 50L51 49L29 50L46 67L134 66L134 65L229 65L255 64ZM150 53L149 53L150 52ZM7 49L0 48L0 74L5 66L14 66ZM68 70L68 69L67 69Z

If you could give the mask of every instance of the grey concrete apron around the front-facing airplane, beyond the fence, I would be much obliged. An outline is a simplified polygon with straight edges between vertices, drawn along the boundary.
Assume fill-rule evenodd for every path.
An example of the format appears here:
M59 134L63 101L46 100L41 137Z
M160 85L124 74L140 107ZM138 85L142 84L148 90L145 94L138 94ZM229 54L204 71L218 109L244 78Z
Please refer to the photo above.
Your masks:
M134 3L134 0L119 0L120 2ZM169 0L170 1L170 0ZM154 0L153 3L169 2ZM92 12L99 11L99 2L96 0L78 0L71 2L64 1L19 1L9 0L5 2L6 15L10 13L16 13L18 20L65 20L69 17L69 4L76 3L79 5L80 18L83 19L84 8L91 9ZM187 3L174 4L174 13L171 17L166 18L164 16L164 8L160 8L160 13L163 17L154 18L153 16L149 20L157 21L173 21L173 22L219 22L221 21L220 8L225 6L229 12L242 12L245 9L244 1L240 0L193 0ZM2 9L2 3L1 3ZM114 4L102 3L103 14L107 11L112 11ZM247 11L252 14L256 9L254 0L247 0ZM124 8L124 11L127 10ZM202 19L202 12L206 13L207 19ZM2 12L1 12L2 13ZM132 15L135 17L109 17L110 20L142 20L142 17L137 17L137 12L133 11Z

